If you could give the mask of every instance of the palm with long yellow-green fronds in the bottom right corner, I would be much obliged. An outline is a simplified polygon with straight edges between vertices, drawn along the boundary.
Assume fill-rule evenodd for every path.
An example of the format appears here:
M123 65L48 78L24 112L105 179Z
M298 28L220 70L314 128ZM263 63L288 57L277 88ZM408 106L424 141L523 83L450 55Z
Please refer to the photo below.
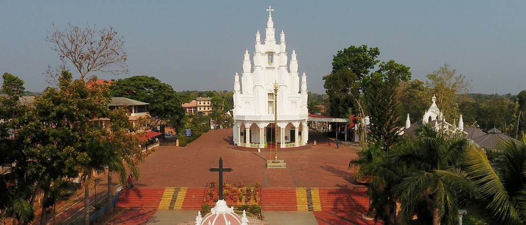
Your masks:
M497 146L499 155L488 160L484 150L471 146L464 154L469 179L482 195L484 211L499 224L526 223L526 134Z

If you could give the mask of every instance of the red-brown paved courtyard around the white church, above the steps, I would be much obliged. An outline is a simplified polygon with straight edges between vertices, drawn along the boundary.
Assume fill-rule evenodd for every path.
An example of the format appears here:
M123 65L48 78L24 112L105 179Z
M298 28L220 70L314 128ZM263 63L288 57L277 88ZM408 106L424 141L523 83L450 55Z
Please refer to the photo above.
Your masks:
M226 182L261 182L263 187L350 187L353 176L349 160L356 157L356 148L328 146L327 138L310 131L307 150L279 152L287 161L286 169L266 169L271 152L250 152L232 149L232 129L210 130L186 147L160 146L140 166L138 188L204 187L208 181L217 182L219 157L225 167Z

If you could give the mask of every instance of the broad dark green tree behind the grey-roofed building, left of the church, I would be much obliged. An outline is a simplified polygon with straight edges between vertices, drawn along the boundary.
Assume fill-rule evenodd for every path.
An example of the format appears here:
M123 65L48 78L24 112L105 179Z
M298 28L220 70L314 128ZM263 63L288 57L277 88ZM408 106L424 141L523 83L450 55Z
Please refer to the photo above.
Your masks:
M154 124L165 122L178 126L184 116L181 97L168 84L155 77L133 76L118 79L110 91L114 97L126 97L149 103L148 112Z

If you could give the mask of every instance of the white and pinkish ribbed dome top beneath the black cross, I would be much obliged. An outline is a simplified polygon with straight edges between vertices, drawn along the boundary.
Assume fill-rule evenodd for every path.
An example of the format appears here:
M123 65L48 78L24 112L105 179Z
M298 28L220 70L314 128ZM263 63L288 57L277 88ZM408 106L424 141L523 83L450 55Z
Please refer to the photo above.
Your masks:
M216 206L210 211L204 217L201 217L201 212L198 212L196 225L248 225L245 210L241 218L234 212L234 207L228 208L225 200L218 200Z

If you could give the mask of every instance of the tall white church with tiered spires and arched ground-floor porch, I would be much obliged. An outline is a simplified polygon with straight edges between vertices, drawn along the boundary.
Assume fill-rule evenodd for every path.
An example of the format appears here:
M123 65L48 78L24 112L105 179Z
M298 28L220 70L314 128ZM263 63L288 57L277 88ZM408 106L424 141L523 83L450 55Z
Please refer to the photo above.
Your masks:
M308 139L307 75L298 73L296 51L290 60L286 52L285 33L275 39L272 9L267 9L265 42L256 32L255 52L250 61L248 49L243 59L241 80L234 76L234 144L265 148L275 142L281 148L304 146ZM277 84L277 98L274 85ZM277 99L276 103L274 102ZM277 124L274 106L277 105Z

